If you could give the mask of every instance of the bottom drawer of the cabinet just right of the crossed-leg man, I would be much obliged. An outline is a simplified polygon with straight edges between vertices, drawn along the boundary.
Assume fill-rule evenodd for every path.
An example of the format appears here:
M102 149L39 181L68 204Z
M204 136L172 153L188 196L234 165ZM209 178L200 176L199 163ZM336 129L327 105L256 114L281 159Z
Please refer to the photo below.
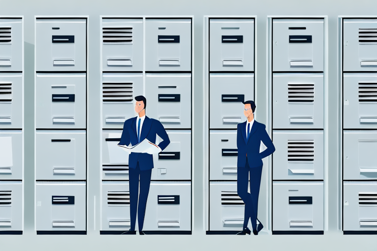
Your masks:
M273 181L272 188L273 231L323 231L323 181Z

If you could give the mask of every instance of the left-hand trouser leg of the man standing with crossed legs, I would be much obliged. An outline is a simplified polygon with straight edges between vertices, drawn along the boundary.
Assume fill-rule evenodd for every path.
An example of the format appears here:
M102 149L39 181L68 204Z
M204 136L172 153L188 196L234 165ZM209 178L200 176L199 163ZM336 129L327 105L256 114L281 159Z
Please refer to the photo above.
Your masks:
M247 161L246 161L247 162ZM247 227L249 218L253 215L253 202L251 200L250 194L247 192L248 186L248 176L249 176L249 166L237 168L237 194L240 196L242 201L245 203L245 213L243 218L243 228ZM256 225L251 222L253 229L256 229Z

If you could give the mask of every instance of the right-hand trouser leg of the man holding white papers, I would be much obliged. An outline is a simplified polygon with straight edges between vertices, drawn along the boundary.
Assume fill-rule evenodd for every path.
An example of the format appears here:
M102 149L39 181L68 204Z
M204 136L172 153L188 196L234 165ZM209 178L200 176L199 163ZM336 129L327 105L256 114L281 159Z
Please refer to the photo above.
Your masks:
M144 216L145 216L145 209L147 207L147 200L149 194L149 186L151 184L151 175L152 169L140 171L140 195L139 195L139 206L138 206L138 223L139 223L139 231L143 229L144 225Z

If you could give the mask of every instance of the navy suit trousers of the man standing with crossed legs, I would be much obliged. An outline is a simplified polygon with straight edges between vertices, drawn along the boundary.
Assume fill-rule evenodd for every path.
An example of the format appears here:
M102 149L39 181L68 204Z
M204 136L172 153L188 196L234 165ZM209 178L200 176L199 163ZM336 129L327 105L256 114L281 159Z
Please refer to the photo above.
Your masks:
M258 215L258 197L261 186L262 166L250 168L246 157L246 166L237 168L237 193L245 203L243 228L247 227L249 219L253 230L256 230ZM250 175L250 193L247 192Z

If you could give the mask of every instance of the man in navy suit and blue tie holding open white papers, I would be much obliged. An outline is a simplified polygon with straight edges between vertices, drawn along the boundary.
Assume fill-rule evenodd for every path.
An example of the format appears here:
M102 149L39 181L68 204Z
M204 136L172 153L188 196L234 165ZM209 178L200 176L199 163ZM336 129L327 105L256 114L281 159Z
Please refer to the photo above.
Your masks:
M145 116L145 108L147 107L147 100L144 96L135 97L135 111L138 113L137 117L128 119L124 122L122 136L118 145L129 146L130 143L135 146L144 139L150 142L156 142L156 134L162 138L162 142L158 145L160 151L163 151L170 143L169 137L160 121L150 119ZM131 215L131 229L128 234L136 234L136 212L138 211L138 226L139 233L142 231L144 224L144 215L147 205L149 186L151 183L151 174L153 168L153 155L148 153L132 152L128 159L129 165L129 179L130 179L130 215ZM140 177L140 195L137 196L139 190ZM137 210L138 208L138 210Z

